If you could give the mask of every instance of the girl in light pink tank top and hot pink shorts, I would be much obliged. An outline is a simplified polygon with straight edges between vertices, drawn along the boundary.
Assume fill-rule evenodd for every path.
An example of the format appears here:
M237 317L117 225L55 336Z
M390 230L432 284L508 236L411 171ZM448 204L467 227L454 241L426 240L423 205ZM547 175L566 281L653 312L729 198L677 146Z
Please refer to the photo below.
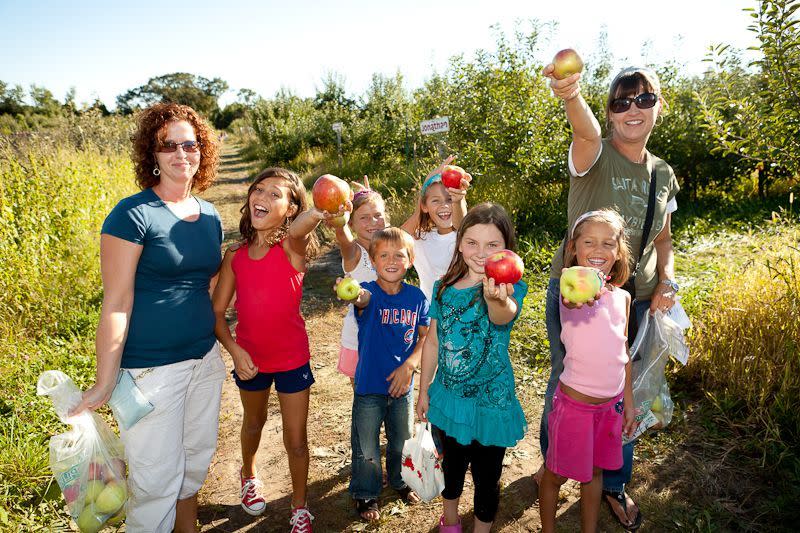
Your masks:
M606 280L587 305L562 295L564 372L548 416L545 470L539 485L542 531L555 531L558 492L569 478L581 482L581 530L595 531L603 469L622 466L622 432L634 429L627 330L631 296L621 285L630 273L625 222L612 209L575 221L564 265L597 269Z

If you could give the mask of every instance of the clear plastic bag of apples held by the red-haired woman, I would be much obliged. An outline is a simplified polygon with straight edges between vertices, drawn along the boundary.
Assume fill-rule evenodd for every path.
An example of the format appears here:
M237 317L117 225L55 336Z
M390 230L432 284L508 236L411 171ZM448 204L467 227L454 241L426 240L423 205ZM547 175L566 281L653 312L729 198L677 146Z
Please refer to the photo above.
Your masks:
M119 524L128 500L122 442L93 411L68 416L81 399L63 372L42 372L36 386L49 396L59 419L70 430L50 438L50 469L61 487L70 514L83 533Z

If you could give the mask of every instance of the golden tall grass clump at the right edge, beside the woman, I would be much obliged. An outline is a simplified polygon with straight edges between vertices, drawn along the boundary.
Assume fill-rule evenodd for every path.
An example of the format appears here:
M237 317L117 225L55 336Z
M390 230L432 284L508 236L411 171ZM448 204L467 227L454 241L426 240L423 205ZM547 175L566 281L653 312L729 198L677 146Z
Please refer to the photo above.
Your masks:
M733 448L773 477L780 513L800 496L800 230L779 227L746 252L695 318L686 375Z

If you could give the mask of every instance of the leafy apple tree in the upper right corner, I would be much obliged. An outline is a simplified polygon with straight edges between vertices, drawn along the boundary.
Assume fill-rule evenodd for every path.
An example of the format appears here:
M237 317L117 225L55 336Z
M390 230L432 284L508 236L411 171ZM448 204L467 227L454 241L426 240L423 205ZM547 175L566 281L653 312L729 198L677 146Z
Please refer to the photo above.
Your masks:
M758 192L771 180L800 175L800 0L764 0L748 9L761 57L740 66L728 46L714 47L715 66L706 90L697 93L714 150L746 162L758 176Z

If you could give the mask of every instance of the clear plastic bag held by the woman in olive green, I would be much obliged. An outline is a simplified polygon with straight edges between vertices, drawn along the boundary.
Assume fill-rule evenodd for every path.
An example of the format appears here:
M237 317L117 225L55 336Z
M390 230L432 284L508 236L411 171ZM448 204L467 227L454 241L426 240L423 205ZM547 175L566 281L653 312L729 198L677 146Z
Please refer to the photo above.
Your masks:
M664 375L670 356L683 364L689 358L683 328L661 311L653 315L645 313L631 346L633 405L639 425L631 437L623 434L623 444L635 440L649 428L665 428L672 421L675 405Z

